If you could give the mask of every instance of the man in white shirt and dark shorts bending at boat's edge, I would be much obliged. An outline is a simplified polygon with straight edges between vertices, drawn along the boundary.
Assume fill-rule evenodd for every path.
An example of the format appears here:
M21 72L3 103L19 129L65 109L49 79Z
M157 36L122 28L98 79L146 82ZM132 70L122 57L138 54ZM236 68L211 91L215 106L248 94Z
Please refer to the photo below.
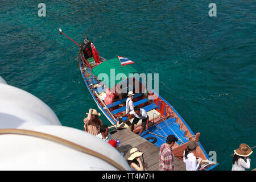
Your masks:
M146 127L148 129L147 123L148 123L148 115L146 110L141 109L139 106L135 106L134 110L130 111L130 113L123 114L122 117L131 117L133 116L133 123L131 123L131 131L134 130L134 125L136 125L140 119L142 119L142 124L141 124L141 130L139 130L139 135L142 134L142 131Z

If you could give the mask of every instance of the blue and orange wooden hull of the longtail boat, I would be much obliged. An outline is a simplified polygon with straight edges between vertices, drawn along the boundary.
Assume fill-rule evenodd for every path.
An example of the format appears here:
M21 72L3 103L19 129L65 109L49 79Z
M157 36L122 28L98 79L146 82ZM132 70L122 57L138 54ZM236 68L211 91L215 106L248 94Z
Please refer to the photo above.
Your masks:
M83 63L82 63L82 56L79 54L79 67L81 71L82 78L84 79L85 85L87 86L93 100L96 102L98 108L102 111L105 117L109 120L112 125L117 124L118 122L118 115L121 113L122 108L115 109L110 111L113 108L108 108L104 102L98 97L98 94L93 86L98 83L97 77L95 77L89 68L84 70ZM140 83L141 84L141 83ZM143 85L141 84L143 87ZM140 91L143 88L140 89ZM146 138L148 140L154 139L155 141L152 142L156 146L160 147L162 143L166 142L166 137L169 134L174 134L179 141L175 143L173 148L174 155L180 159L183 158L183 152L187 147L187 143L189 140L199 140L200 133L194 134L184 119L180 116L179 113L169 104L164 98L159 96L157 93L151 92L148 96L141 96L141 100L146 100L147 98L150 99L150 104L145 107L142 107L147 111L148 114L151 114L150 123L148 130L143 131L141 137ZM135 99L136 100L136 99ZM135 104L136 102L134 102ZM139 103L138 103L139 104ZM143 103L141 104L143 105ZM150 113L151 112L151 113ZM157 117L155 117L157 115ZM127 118L124 118L124 120ZM135 126L134 132L139 131L141 125ZM198 141L199 142L199 141ZM196 149L196 156L203 158L205 161L209 161L209 156L207 152L204 150L203 146L199 142L199 147ZM204 170L210 170L216 167L218 163L214 162L213 164L208 165L208 167L204 168Z

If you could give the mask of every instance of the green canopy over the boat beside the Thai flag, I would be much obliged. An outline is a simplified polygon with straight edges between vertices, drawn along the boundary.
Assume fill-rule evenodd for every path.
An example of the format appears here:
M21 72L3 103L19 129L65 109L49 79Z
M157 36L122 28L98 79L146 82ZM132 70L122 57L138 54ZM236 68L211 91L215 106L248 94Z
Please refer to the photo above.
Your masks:
M123 77L133 77L133 74L138 72L130 65L124 65L122 67L119 59L114 58L106 60L94 67L92 69L92 73L98 78L98 80L104 82L108 88L112 88L114 85L118 84L118 82L122 81Z

